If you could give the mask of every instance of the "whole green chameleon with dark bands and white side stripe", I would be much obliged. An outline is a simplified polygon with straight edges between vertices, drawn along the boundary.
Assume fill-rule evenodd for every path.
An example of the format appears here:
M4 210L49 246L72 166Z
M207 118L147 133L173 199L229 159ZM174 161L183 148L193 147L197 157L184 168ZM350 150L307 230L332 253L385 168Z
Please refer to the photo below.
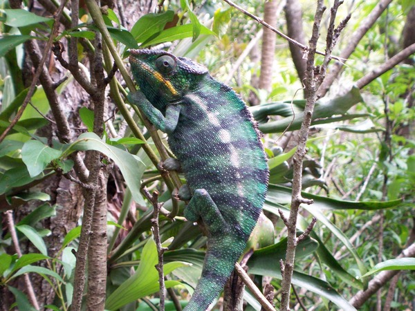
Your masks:
M239 95L204 66L147 49L131 50L129 62L141 90L129 98L167 133L187 180L179 191L190 200L185 217L203 220L208 231L202 276L185 308L203 311L234 270L264 204L268 165L260 133Z

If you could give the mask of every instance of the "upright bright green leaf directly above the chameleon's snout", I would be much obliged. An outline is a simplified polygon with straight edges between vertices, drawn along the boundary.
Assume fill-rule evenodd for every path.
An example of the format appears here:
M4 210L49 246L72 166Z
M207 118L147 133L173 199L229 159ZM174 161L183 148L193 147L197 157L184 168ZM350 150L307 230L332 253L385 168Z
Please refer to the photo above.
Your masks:
M166 23L172 21L173 18L174 11L172 10L167 10L160 14L149 13L143 15L134 24L133 28L131 28L131 35L133 35L138 43L142 43L149 39L149 37L162 31Z

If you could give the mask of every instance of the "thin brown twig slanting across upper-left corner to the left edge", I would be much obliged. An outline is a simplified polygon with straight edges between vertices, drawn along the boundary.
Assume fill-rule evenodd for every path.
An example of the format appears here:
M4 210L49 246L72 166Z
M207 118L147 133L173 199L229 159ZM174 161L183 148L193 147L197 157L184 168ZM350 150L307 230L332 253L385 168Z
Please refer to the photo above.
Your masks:
M68 0L62 1L62 3L60 4L60 6L59 6L59 8L58 8L58 10L55 14L52 32L50 33L48 43L45 46L45 51L50 50L50 47L53 44L53 39L55 39L55 37L57 35L57 30L59 29L59 25L60 25L59 19L62 15L62 12L63 12L64 8L65 8L66 1L68 1ZM36 88L37 81L39 80L40 74L42 73L42 69L43 69L43 66L46 62L46 59L48 59L48 55L49 55L49 53L47 53L47 52L44 53L44 55L43 55L43 57L40 61L39 67L37 67L35 75L33 76L32 83L30 84L29 91L28 91L28 93L27 93L27 95L26 95L26 97L23 101L23 104L21 104L21 107L20 107L19 111L17 111L16 116L14 117L12 122L10 122L9 126L7 126L7 128L3 131L3 133L1 133L0 142L2 142L4 140L4 138L6 138L7 134L10 132L10 130L13 128L13 126L15 126L17 124L17 121L20 120L21 115L23 115L23 112L26 109L26 106L28 106L30 98L32 98L33 93L35 93L35 88Z

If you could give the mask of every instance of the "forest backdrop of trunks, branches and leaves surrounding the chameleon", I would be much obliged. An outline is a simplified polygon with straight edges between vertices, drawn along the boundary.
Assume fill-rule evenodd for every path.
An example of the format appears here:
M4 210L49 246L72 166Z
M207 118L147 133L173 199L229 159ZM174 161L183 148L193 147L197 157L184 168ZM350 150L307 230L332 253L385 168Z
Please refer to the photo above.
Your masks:
M244 262L268 301L415 309L415 1L227 3L0 2L0 310L186 304L206 238L170 196L182 176L156 169L165 135L126 99L127 49L154 46L207 66L265 133L270 187ZM313 200L298 216L295 182ZM235 290L273 310L232 286L214 308L235 310Z

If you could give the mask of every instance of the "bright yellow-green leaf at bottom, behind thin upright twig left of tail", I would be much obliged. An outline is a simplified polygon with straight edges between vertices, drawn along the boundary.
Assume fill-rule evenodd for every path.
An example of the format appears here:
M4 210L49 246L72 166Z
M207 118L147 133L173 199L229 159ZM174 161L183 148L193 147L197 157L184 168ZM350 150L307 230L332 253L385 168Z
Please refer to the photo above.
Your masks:
M136 301L144 296L153 294L159 290L158 272L156 270L156 263L158 262L158 255L156 243L152 238L149 238L140 257L140 264L136 272L127 281L122 283L105 301L105 308L107 310L118 310L123 305ZM178 267L186 265L181 262L171 262L164 265L164 273L169 274ZM180 284L176 281L166 281L166 288Z

